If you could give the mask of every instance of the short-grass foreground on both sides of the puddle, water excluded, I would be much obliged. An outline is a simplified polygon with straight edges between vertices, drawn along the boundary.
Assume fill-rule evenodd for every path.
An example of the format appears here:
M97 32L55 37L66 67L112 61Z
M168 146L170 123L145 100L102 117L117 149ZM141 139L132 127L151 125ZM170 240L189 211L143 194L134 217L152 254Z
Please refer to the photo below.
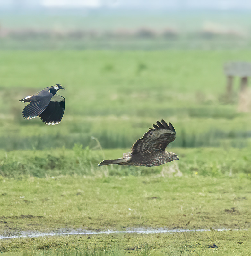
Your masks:
M136 255L144 255L140 254L144 248L149 253L159 252L157 255L180 255L182 244L185 246L187 241L187 253L198 245L195 255L210 255L209 244L217 244L216 254L247 255L248 231L213 231L220 227L249 227L250 182L245 177L57 176L4 181L0 190L0 230L5 235L61 228L210 227L212 231L7 239L0 242L2 252L67 249L67 255L75 255L71 251L74 248L89 248L90 252L111 246L113 250L134 251Z

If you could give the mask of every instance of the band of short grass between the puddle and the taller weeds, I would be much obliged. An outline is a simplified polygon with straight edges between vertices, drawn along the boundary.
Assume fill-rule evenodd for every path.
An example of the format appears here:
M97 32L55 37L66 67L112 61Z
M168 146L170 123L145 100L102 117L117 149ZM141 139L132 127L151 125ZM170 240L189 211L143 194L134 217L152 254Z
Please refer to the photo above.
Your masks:
M250 179L245 176L211 178L196 174L173 178L156 175L2 179L0 231L243 229L249 225L249 187Z

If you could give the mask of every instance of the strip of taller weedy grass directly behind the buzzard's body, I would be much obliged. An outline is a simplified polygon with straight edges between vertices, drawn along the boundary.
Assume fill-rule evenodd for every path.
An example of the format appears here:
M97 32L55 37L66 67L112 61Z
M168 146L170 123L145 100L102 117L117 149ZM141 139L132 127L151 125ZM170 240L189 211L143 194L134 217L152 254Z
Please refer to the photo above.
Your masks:
M65 147L50 150L18 150L0 151L0 177L20 178L27 176L47 177L58 175L99 175L109 176L145 176L163 174L172 176L177 171L183 175L198 175L223 177L232 174L249 177L251 174L250 147L242 149L229 147L219 148L173 148L169 151L176 153L180 160L157 167L137 166L105 166L100 167L104 159L122 157L126 149L106 149L98 147L91 150L75 144L72 149ZM176 170L172 174L172 170Z

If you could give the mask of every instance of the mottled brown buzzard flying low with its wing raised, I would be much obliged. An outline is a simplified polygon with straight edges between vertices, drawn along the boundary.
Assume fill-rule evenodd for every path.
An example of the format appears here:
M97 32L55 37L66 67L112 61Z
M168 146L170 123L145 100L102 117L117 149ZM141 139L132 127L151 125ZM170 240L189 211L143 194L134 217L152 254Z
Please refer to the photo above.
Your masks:
M141 139L138 139L132 146L131 152L124 153L122 158L107 159L99 163L100 165L119 164L134 166L158 166L179 160L178 156L172 152L165 151L167 145L175 140L175 130L171 123L162 119L157 121L154 128L149 128Z

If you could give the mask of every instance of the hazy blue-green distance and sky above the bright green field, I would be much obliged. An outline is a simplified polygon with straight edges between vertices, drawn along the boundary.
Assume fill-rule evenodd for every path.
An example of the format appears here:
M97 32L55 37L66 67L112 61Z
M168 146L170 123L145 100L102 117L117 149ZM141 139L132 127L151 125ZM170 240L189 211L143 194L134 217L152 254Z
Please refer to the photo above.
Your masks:
M0 1L3 49L226 49L250 46L245 0Z

